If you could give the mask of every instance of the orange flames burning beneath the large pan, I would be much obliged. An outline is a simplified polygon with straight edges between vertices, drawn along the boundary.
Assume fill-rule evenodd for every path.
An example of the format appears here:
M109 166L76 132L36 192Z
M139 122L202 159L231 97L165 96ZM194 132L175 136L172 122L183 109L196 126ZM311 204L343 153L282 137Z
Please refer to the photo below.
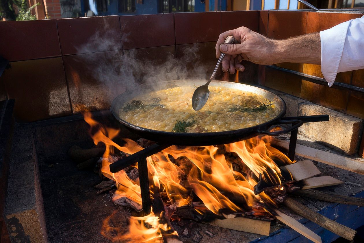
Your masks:
M123 146L113 142L119 130L104 127L92 119L91 113L85 113L84 119L91 127L95 144L103 142L106 145L101 171L116 183L113 200L127 198L141 205L139 181L131 180L124 170L111 173L109 165L117 160L113 157L115 148L126 155L143 148L128 139L124 139ZM226 154L232 157L226 157ZM159 192L165 205L174 207L192 205L193 200L198 200L202 210L196 210L201 213L210 211L223 215L223 212L251 212L258 205L274 204L264 192L254 194L254 186L259 180L281 185L281 171L274 160L292 163L279 150L270 146L269 136L221 146L170 146L147 158L151 197ZM236 170L234 166L240 169ZM161 223L161 217L153 213L144 217L131 217L129 233L125 237L138 238L138 242L155 242L162 237L161 232L170 230L166 227L168 225Z

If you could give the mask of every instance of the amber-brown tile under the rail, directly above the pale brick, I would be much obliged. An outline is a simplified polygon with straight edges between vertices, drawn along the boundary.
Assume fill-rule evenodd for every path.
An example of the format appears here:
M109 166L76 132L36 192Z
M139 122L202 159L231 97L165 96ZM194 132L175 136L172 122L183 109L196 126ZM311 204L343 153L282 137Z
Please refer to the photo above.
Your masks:
M335 86L318 85L302 80L301 98L325 106L329 109L345 113L349 91Z

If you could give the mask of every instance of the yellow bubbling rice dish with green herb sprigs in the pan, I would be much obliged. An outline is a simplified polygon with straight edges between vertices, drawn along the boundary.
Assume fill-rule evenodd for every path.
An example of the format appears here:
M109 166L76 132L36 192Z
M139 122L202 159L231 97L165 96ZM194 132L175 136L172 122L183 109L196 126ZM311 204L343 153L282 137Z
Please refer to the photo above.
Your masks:
M280 112L261 95L238 89L209 86L206 105L191 105L195 87L182 86L152 91L126 102L119 116L131 124L166 132L221 132L268 122Z

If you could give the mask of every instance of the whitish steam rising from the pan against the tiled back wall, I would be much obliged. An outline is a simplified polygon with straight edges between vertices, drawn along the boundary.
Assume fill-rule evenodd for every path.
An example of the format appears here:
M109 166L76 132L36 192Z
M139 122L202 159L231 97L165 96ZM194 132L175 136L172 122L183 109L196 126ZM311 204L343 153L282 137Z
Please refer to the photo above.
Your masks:
M211 67L214 67L214 64L200 60L197 54L198 44L181 48L178 51L180 57L175 58L174 46L116 50L118 43L115 39L119 39L115 36L118 35L120 33L113 32L105 21L103 30L97 30L86 45L78 48L79 53L85 53L78 55L78 59L79 62L87 63L86 76L92 77L95 81L94 86L79 87L78 96L85 97L88 93L97 92L94 95L99 97L96 98L96 104L87 104L82 100L79 100L79 103L95 106L96 109L107 109L104 106L126 90L138 91L142 87L153 87L155 83L161 81L206 79L211 73ZM211 52L214 53L214 49Z

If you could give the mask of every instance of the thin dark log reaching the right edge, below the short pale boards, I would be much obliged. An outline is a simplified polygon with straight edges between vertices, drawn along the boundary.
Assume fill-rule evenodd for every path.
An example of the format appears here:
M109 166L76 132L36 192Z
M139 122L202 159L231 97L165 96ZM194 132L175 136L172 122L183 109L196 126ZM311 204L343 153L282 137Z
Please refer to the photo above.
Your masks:
M318 200L323 200L331 203L343 203L348 205L356 205L364 207L364 198L359 198L359 197L341 196L333 193L321 192L312 189L299 190L297 192L294 192L294 194Z

